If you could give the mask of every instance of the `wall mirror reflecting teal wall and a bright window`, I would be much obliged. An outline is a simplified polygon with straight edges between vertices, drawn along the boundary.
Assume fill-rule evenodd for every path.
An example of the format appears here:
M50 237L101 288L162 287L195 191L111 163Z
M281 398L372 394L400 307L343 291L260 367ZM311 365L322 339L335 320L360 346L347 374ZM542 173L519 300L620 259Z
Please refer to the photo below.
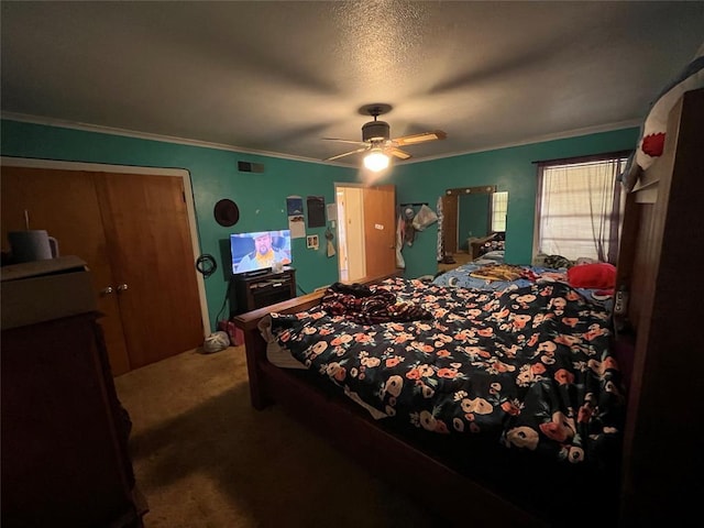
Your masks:
M446 190L438 226L439 268L465 264L480 256L487 241L503 240L507 209L508 191L498 193L495 185Z

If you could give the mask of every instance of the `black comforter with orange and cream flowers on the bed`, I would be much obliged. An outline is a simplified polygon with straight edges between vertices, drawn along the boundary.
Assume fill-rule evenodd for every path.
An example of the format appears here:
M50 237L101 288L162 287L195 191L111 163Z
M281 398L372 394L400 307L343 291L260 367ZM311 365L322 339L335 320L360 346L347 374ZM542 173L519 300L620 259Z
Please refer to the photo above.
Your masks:
M619 441L608 312L569 285L480 292L395 278L370 289L381 290L431 317L362 324L321 305L272 314L272 331L364 407L429 433L488 435L571 463Z

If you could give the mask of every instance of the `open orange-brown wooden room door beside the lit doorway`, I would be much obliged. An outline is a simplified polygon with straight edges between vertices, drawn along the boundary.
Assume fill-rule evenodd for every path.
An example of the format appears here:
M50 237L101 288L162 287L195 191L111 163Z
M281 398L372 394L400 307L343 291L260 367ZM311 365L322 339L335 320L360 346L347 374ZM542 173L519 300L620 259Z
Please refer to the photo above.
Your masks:
M396 188L364 187L364 248L366 276L396 271Z

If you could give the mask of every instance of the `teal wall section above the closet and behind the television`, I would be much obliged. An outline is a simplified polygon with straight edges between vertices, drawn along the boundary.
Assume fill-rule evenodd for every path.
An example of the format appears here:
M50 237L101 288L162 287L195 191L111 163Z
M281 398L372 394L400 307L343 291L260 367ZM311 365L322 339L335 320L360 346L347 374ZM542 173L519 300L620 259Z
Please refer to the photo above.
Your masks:
M301 196L304 208L309 195L323 196L326 204L333 202L334 183L356 182L358 175L355 169L318 163L16 121L2 121L1 133L3 156L188 170L200 253L213 255L218 263L218 271L205 279L213 330L229 278L229 234L287 229L287 196ZM263 163L264 173L240 173L238 161ZM233 200L240 208L240 221L231 228L218 224L212 213L213 206L222 198ZM323 243L314 251L306 249L305 238L292 241L299 293L312 292L338 279L337 257L326 255L324 228L307 228L306 231L307 234L318 234Z

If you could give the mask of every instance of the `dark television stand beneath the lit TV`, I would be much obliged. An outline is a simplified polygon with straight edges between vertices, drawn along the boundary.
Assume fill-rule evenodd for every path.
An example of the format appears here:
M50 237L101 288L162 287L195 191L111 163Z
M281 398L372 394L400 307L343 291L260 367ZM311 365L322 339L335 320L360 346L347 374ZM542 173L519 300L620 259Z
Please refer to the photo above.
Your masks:
M285 267L280 273L233 275L231 280L231 316L296 297L296 270L293 267Z

